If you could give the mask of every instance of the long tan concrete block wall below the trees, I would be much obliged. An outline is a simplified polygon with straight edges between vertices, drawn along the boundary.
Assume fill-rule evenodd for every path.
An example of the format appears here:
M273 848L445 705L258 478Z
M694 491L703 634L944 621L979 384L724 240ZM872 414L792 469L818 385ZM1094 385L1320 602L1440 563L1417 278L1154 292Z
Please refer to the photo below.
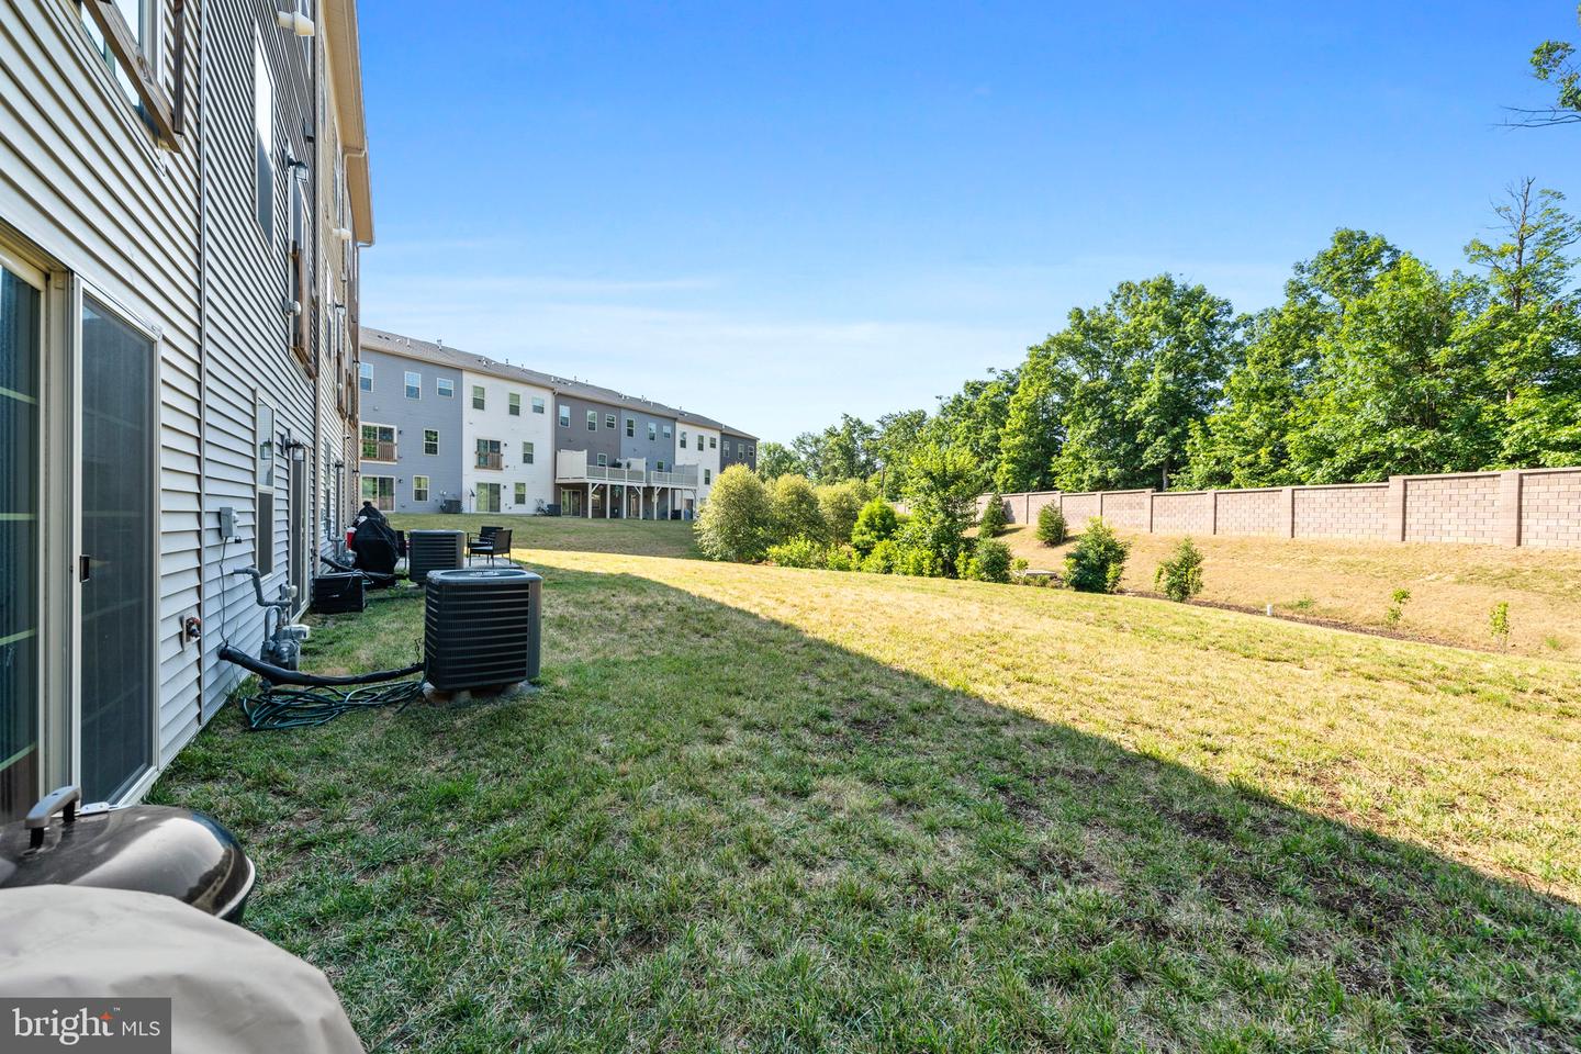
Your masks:
M1157 534L1469 542L1581 548L1581 468L1394 476L1385 484L1200 491L1004 495L1012 523L1058 503L1073 531L1092 517Z

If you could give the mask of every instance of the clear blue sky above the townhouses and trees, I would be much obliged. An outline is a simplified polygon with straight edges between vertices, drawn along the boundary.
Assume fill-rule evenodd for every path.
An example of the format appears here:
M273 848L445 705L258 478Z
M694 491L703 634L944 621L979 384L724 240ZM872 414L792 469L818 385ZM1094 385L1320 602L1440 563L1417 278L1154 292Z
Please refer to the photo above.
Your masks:
M443 17L436 17L443 16ZM360 5L365 322L789 441L933 408L1115 283L1434 265L1535 175L1570 0Z

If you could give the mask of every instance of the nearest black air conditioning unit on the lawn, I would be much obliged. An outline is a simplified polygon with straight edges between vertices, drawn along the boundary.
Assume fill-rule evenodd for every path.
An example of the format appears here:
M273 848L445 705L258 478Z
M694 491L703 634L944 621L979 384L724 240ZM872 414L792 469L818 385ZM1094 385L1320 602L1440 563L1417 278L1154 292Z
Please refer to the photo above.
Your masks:
M542 577L520 567L428 572L428 683L458 692L538 679L542 586Z

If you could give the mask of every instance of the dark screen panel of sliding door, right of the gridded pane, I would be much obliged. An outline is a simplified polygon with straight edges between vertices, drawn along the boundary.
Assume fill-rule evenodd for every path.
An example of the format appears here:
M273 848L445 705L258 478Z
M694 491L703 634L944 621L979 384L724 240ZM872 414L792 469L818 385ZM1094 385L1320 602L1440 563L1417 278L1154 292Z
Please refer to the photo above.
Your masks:
M142 329L81 303L77 773L84 801L115 801L153 762L158 357Z

